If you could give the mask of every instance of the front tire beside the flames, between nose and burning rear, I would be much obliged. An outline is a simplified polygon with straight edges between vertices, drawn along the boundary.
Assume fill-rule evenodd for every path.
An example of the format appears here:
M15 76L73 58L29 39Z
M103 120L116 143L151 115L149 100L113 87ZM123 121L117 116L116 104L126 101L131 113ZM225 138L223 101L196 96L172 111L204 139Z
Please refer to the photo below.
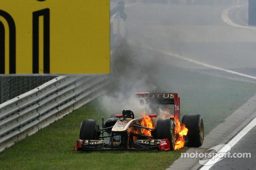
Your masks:
M175 148L175 125L174 121L170 119L160 119L157 121L155 127L155 139L168 139L170 142L170 149Z

